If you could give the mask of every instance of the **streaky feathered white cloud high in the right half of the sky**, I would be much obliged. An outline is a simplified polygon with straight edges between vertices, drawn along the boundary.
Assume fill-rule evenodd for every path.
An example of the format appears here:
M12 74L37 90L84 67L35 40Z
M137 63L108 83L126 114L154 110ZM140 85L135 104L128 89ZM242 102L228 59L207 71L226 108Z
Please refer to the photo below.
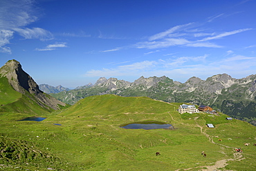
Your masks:
M222 15L222 14L221 14ZM221 15L217 16L220 17ZM216 18L216 17L215 17ZM212 33L204 33L198 32L199 29L185 30L186 27L192 25L192 23L174 26L165 32L160 32L158 34L154 34L152 37L149 37L149 41L138 42L134 45L135 48L147 48L147 49L156 49L156 48L167 48L170 46L188 46L188 47L204 47L204 48L223 48L223 46L219 46L216 43L209 42L214 39L221 39L223 37L230 36L232 34L237 34L239 32L245 32L248 30L252 30L251 28L244 28L239 30L233 30L231 32L223 32L221 34L217 34L215 32ZM182 32L177 32L182 31ZM184 33L186 32L186 33ZM190 33L191 32L191 33ZM198 33L196 33L198 32ZM213 36L215 35L215 36ZM211 37L206 37L211 36ZM175 38L174 38L175 37ZM203 39L198 39L199 37L205 37Z

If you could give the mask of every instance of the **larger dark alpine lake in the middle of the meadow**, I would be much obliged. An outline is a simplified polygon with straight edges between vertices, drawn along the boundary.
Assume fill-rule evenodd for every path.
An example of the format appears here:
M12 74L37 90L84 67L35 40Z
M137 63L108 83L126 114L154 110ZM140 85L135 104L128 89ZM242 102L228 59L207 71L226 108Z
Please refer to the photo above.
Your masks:
M125 129L144 129L144 130L154 130L154 129L174 129L171 124L167 124L161 121L140 121L134 123L127 123L120 125L120 128Z

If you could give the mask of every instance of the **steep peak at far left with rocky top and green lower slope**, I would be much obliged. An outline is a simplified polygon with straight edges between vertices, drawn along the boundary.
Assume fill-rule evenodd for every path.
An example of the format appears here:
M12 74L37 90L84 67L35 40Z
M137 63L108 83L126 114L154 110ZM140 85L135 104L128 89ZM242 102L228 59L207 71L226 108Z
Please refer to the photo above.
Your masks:
M0 79L0 111L38 113L66 106L66 103L39 90L37 83L22 70L21 64L16 60L10 60L0 68Z

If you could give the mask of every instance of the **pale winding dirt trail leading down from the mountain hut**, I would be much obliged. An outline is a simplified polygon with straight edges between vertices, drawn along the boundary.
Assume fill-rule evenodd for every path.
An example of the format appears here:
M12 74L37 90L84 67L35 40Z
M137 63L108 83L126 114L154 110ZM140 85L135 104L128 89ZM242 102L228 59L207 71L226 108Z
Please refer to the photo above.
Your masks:
M170 112L168 112L168 114L170 114ZM176 120L174 120L174 118L172 117L172 114L170 114L170 117L172 118L173 121L176 121ZM221 146L223 146L223 147L225 147L225 148L231 148L231 149L233 149L233 150L234 150L234 153L233 153L234 158L232 158L232 159L222 159L222 160L216 161L216 162L214 163L214 165L201 165L201 166L197 166L197 167L195 167L195 168L203 168L203 169L201 169L201 171L218 171L218 169L224 168L226 165L228 165L228 163L227 163L228 161L240 161L240 160L245 159L245 158L243 158L243 155L242 155L240 152L236 152L236 151L235 151L235 148L232 148L232 147L230 147L230 146L228 146L228 145L223 145L223 144L220 144L220 143L215 143L215 142L213 141L212 137L210 137L209 134L207 134L206 132L203 131L203 127L202 127L201 125L199 125L199 123L196 122L196 119L197 119L197 118L194 119L194 121L195 121L195 123L196 123L196 125L194 125L194 126L200 128L201 134L204 134L205 137L208 137L208 139L209 139L209 141L210 141L211 143L214 143L214 144L217 144L217 145L221 145ZM176 121L176 122L181 123L181 124L184 124L184 123L181 122L181 121ZM205 123L206 123L206 122L205 122ZM206 169L205 169L205 168L206 168ZM192 170L192 169L194 169L194 168L178 169L178 170L175 170L175 171L179 171L179 170ZM223 170L223 169L222 169L222 170Z

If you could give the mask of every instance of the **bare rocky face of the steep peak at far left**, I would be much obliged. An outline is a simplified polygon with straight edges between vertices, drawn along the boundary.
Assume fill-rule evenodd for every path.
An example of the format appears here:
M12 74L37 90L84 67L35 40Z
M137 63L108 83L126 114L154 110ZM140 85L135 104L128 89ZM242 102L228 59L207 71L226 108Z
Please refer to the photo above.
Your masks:
M42 108L58 110L59 105L66 105L62 101L58 101L54 97L44 94L39 90L39 86L35 81L21 68L21 64L16 60L8 61L3 67L0 68L1 77L6 77L8 82L17 92L24 94Z

